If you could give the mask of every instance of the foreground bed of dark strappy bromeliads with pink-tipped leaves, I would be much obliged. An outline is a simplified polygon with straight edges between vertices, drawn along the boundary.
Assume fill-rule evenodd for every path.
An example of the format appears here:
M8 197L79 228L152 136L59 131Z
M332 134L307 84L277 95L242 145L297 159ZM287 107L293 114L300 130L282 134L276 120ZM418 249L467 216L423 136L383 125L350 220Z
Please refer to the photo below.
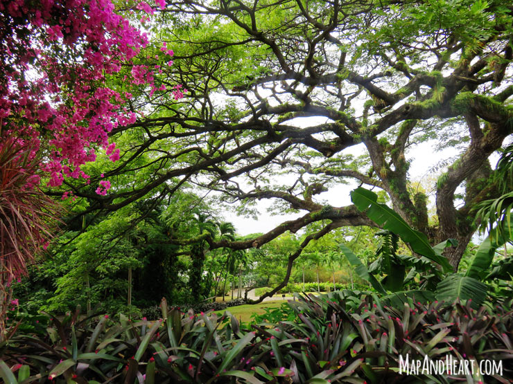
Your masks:
M228 311L182 312L165 300L164 318L153 322L80 320L77 311L0 345L0 374L8 383L509 383L510 304L388 307L375 295L346 291L290 301L293 320L249 329ZM400 356L502 361L503 372L399 374Z

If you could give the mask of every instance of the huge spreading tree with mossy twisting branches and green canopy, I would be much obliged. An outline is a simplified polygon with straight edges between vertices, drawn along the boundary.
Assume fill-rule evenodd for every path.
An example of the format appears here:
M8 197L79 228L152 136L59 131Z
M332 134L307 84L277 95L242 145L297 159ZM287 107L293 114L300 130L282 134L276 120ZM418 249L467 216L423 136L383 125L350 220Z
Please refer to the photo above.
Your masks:
M259 247L319 223L290 254L288 279L311 239L374 225L354 205L322 201L322 192L352 179L386 192L432 244L457 239L445 255L458 267L476 230L471 209L498 194L489 156L513 133L511 5L191 0L168 1L157 20L159 42L141 64L165 68L155 77L189 92L180 102L145 89L134 94L132 107L144 104L146 117L110 132L125 143L105 172L112 189L97 196L67 183L92 202L86 212L192 187L215 190L241 212L273 199L302 216L252 239L206 241L210 248ZM162 41L179 53L173 66L155 56ZM436 223L408 174L412 149L427 139L456 154L437 179ZM345 152L356 145L365 156ZM151 161L142 163L144 156ZM116 175L132 181L116 183Z

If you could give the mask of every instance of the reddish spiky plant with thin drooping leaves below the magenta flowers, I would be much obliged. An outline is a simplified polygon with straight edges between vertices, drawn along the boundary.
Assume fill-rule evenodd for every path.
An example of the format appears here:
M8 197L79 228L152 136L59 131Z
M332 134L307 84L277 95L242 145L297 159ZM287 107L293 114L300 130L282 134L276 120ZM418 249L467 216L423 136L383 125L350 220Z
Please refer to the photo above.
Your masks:
M12 282L26 275L58 223L60 208L37 186L37 166L31 148L17 139L0 144L0 340Z

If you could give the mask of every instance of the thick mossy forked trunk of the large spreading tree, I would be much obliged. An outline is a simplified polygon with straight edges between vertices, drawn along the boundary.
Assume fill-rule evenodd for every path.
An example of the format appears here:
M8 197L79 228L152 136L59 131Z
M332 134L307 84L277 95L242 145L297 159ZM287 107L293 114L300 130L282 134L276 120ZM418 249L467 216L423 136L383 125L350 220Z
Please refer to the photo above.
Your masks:
M471 108L477 109L478 106L471 106ZM481 113L484 112L481 111ZM408 134L415 127L415 122L405 122L403 131L393 145L385 141L382 143L376 138L365 140L373 172L376 172L376 176L381 181L381 185L378 186L388 193L394 210L410 226L424 232L433 246L447 239L458 241L458 246L444 250L444 255L449 259L454 271L458 271L460 260L475 232L471 208L480 201L494 197L497 193L496 185L489 182L492 169L488 156L501 147L503 138L510 132L502 127L505 125L504 122L496 122L489 124L487 127L489 132L485 135L480 129L476 114L469 110L464 117L469 127L471 143L458 161L450 165L437 181L438 224L435 227L428 226L426 196L421 194L412 196L408 190L409 165L404 156L404 149ZM464 205L457 209L455 208L455 190L460 185L464 185Z

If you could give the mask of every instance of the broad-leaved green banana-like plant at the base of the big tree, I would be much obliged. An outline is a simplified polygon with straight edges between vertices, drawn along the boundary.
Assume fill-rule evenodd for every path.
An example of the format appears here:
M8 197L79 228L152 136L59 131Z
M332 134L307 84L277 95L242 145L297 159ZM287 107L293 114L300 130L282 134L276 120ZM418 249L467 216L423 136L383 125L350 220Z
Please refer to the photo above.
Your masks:
M442 251L448 246L455 246L454 241L449 239L431 247L424 235L410 228L406 221L403 221L397 213L385 204L378 203L377 196L373 192L358 188L351 192L351 199L353 199L358 209L365 212L369 218L388 231L383 232L385 239L388 239L383 241L379 248L379 252L382 254L381 259L379 259L382 264L380 268L376 265L367 268L349 248L340 244L342 252L345 253L349 262L356 267L356 273L370 282L376 291L383 295L386 295L387 291L401 291L404 288L403 285L412 280L417 273L428 271L431 275L426 280L429 281L424 281L424 284L419 286L419 288L422 288L421 291L401 291L401 295L417 295L417 298L424 296L425 300L436 297L438 300L449 302L455 299L472 299L473 307L482 304L487 296L487 286L480 280L483 280L489 274L488 269L492 264L496 247L504 244L503 237L496 236L494 244L489 237L482 241L473 259L471 259L466 273L448 273L450 265L442 255ZM401 237L411 247L412 251L420 257L395 255L394 251L397 248L395 235ZM406 275L406 266L411 268L408 275ZM437 268L438 266L442 267L442 272ZM376 272L386 274L381 282L378 282L372 275ZM446 274L443 275L442 273ZM391 280L394 283L388 284ZM432 284L433 282L435 284ZM433 295L433 291L435 291L435 295Z

